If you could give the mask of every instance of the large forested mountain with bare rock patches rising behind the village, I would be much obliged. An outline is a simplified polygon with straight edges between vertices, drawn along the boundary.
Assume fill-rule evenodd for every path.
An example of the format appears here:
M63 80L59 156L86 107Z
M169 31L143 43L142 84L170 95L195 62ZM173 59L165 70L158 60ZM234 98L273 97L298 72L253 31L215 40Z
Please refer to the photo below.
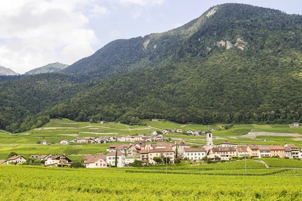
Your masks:
M164 33L115 40L60 73L0 83L0 129L49 118L302 122L302 16L210 8Z

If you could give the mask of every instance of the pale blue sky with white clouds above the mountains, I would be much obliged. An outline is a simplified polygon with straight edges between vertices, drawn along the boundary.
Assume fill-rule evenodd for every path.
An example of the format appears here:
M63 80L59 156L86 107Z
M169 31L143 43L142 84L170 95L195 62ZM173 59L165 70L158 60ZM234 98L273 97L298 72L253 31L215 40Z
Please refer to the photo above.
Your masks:
M302 14L300 0L0 0L0 65L23 74L72 64L112 40L179 27L210 7L242 3Z

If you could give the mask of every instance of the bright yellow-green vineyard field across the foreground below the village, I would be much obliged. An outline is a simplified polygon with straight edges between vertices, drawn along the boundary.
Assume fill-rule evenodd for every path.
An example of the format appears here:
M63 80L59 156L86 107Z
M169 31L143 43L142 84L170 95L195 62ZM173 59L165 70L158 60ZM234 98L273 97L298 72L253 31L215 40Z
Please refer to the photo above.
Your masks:
M208 175L131 169L0 165L0 200L301 200L296 172L213 170ZM133 171L134 170L134 171ZM140 173L135 171L142 171ZM229 172L228 172L229 171ZM200 173L206 171L199 171ZM220 174L219 174L220 172ZM261 176L248 173L260 172ZM265 176L270 174L269 176ZM272 176L271 176L272 175ZM29 179L30 178L30 179Z

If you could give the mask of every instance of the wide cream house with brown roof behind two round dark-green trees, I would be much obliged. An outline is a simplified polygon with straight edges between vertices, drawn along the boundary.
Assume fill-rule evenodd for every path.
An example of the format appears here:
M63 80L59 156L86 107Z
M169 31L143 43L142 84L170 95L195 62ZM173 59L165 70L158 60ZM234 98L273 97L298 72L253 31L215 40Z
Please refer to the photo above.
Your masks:
M140 150L140 159L141 164L146 165L148 163L157 164L153 158L154 157L170 157L170 164L174 164L175 159L175 151L172 149L161 148L161 149L148 149L148 150Z

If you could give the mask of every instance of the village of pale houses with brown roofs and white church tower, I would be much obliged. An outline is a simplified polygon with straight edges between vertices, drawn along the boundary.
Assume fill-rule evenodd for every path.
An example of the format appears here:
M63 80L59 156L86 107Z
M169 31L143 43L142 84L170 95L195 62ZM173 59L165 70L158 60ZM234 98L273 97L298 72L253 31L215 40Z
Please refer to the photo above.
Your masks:
M182 132L181 129L164 129L162 133ZM62 140L60 144L69 143L110 143L123 142L123 144L110 144L106 153L99 155L85 155L84 166L86 168L108 168L131 166L135 161L139 161L141 166L157 165L162 163L175 164L182 160L191 162L203 162L205 160L231 161L248 158L289 158L302 159L302 149L298 149L293 144L284 146L263 146L263 145L238 145L231 142L213 143L213 133L203 130L187 130L188 135L206 135L206 144L202 147L195 146L183 141L175 143L164 142L163 135L158 135L157 131L150 131L151 136L119 136L119 137L86 137L77 138L72 141ZM126 144L125 142L129 142ZM47 141L40 142L47 145ZM62 155L31 155L30 159L43 160L44 166L58 167L70 166L72 161ZM0 163L18 164L25 163L24 156L13 156ZM117 164L115 164L117 163Z

